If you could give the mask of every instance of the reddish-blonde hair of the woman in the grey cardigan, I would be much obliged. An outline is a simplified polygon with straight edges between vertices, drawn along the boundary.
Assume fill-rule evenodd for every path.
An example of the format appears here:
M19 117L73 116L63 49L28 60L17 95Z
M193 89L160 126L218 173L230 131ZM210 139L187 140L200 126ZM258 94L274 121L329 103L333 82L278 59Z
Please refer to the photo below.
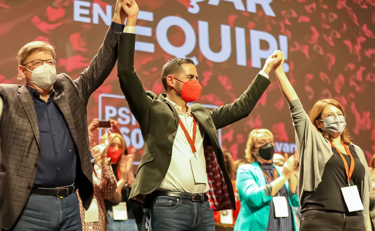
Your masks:
M327 105L333 105L333 106L337 107L339 110L342 111L342 115L345 116L344 110L342 110L341 104L338 101L333 100L333 99L324 99L324 100L318 100L314 104L314 106L311 109L311 112L309 113L309 118L310 118L312 124L314 124L315 128L318 131L320 131L320 133L323 135L323 137L326 138L327 140L330 140L329 134L327 134L326 132L324 132L323 129L318 128L317 125L315 124L315 121L317 121L319 119L323 119L322 118L322 112L323 112L324 108ZM345 128L344 132L341 134L341 140L346 145L350 145L351 144L351 137L349 135L349 132L348 132L347 128Z

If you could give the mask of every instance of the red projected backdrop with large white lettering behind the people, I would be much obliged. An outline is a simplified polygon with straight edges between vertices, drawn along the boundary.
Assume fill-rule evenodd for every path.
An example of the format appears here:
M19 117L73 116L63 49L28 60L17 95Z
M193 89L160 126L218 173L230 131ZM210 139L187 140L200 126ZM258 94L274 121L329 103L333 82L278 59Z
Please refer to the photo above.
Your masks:
M16 55L32 40L48 40L56 49L57 72L77 78L99 48L114 4L115 0L0 0L1 83L24 83L16 79ZM231 103L251 83L264 58L282 49L287 75L305 109L321 98L335 98L344 106L354 143L368 159L374 154L374 0L138 0L138 5L135 68L145 89L162 93L162 65L186 56L198 62L203 86L198 102ZM90 98L87 119L119 120L127 143L139 149L139 160L143 143L121 98L116 72L115 68ZM290 111L273 74L270 80L251 115L221 131L223 148L235 159L244 156L254 128L272 130L277 151L294 151Z

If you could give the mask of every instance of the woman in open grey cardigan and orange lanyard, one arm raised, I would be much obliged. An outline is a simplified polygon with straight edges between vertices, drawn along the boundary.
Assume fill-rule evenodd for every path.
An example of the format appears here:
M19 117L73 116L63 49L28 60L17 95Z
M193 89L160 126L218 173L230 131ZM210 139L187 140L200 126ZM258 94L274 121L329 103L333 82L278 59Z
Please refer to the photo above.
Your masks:
M309 118L282 69L284 54L272 55L278 56L282 62L274 70L291 110L300 154L300 230L371 230L368 164L351 143L341 105L319 100Z

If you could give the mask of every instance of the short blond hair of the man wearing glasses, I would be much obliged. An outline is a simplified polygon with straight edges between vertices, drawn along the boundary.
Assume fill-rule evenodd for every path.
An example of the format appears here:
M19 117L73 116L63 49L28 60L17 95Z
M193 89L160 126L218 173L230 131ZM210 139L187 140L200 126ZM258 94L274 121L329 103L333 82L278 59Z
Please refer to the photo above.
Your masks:
M33 41L24 45L17 54L18 65L24 65L25 60L35 51L48 51L53 58L56 58L55 49L47 42ZM22 79L18 74L17 79Z

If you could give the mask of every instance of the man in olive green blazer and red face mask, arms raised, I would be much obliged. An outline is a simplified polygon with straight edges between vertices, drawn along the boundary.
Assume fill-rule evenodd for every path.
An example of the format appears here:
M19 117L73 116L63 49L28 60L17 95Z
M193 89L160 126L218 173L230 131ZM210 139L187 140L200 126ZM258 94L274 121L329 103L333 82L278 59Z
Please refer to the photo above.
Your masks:
M151 207L153 231L214 230L213 209L236 209L216 130L249 115L270 84L268 73L281 60L267 59L234 103L207 110L201 104L187 105L200 94L198 74L189 59L173 58L163 66L167 94L145 91L133 65L134 28L124 31L128 33L120 34L118 77L145 142L129 198ZM195 142L188 142L189 137Z

